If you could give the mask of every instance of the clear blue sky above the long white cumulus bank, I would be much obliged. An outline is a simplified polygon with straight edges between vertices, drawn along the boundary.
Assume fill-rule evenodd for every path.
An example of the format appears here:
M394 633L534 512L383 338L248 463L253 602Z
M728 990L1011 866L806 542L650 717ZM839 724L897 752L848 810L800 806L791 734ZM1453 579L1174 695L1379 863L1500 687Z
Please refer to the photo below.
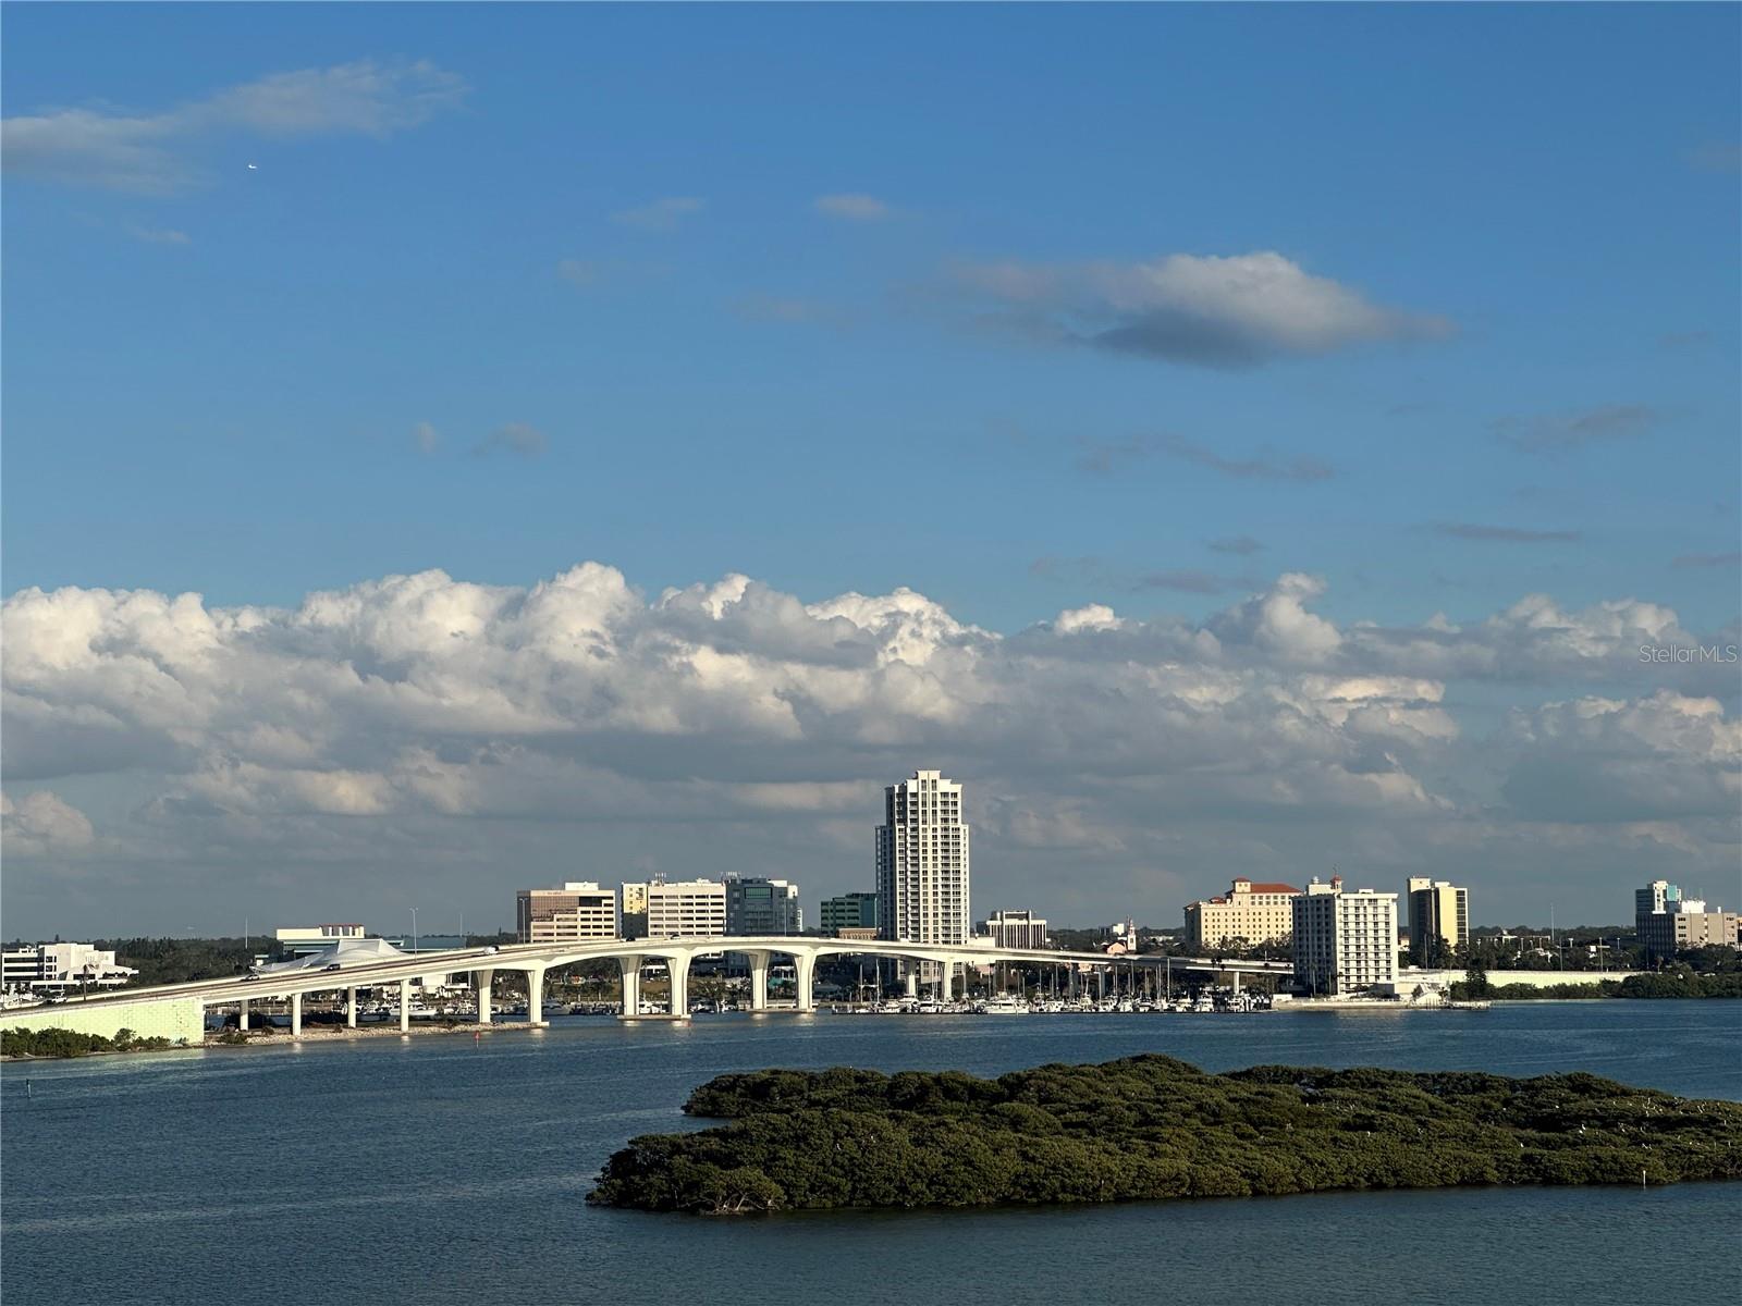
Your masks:
M1711 641L1739 37L1721 5L12 7L3 587L296 608L596 559L1014 636L1301 573L1345 630L1547 594ZM1613 681L1446 702L1495 730ZM162 789L117 766L71 784Z

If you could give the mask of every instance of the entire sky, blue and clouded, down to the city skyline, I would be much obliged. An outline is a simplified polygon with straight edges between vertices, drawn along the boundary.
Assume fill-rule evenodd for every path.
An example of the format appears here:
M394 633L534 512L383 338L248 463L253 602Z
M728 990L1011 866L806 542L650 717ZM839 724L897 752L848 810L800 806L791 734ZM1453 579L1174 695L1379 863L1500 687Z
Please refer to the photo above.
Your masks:
M976 918L1733 907L1739 44L10 7L0 928L810 912L916 768Z

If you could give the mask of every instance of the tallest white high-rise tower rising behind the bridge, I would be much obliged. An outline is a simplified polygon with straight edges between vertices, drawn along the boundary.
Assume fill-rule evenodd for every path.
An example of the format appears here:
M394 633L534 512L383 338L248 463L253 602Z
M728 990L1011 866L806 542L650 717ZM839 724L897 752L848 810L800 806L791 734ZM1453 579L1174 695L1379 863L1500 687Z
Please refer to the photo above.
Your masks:
M937 771L883 791L876 827L878 930L911 944L960 944L969 916L969 827L962 785Z

